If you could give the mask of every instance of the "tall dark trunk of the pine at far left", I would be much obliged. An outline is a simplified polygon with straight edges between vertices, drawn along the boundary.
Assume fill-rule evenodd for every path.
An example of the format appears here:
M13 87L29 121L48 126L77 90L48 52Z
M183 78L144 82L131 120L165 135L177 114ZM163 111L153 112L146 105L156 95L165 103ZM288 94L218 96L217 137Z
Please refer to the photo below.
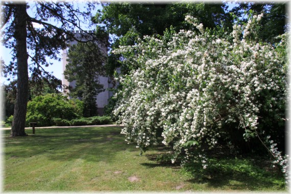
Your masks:
M14 38L16 41L17 93L10 137L25 136L25 122L28 103L28 53L26 4L15 5Z

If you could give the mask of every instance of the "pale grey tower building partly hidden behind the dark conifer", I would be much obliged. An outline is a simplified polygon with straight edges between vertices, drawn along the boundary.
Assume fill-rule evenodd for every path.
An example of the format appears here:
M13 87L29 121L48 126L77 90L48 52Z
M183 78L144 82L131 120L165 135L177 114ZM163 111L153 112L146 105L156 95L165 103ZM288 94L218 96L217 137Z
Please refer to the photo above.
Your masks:
M75 37L78 40L84 40L84 38L81 38L82 34L79 31L73 31L73 32L75 34ZM92 32L92 31L89 31L89 32ZM70 46L72 46L74 44L77 44L76 40L69 42ZM107 52L108 52L107 46L103 46L103 47L101 47L101 49L107 54ZM66 65L68 64L68 62L67 62L68 50L69 50L69 47L62 51L63 72L66 69ZM112 92L109 91L109 88L113 88L114 84L113 84L113 81L111 80L110 77L104 77L104 76L99 76L98 78L96 78L96 82L98 82L99 84L102 84L104 89L105 89L104 92L101 92L96 96L96 104L98 106L98 114L103 115L104 114L104 106L107 105L108 99L113 95ZM68 82L65 79L64 74L62 74L62 84L66 85L66 86L71 86L72 88L74 88L76 86L76 82L75 81ZM65 92L69 93L69 91L65 91Z

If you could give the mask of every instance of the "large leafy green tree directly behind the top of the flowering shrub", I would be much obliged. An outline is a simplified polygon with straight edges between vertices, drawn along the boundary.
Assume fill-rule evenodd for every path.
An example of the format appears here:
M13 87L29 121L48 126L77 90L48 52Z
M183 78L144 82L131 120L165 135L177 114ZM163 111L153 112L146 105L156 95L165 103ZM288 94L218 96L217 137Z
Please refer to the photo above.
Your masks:
M224 21L226 27L230 27L231 17L225 12L224 4L131 4L110 3L104 4L103 10L94 17L96 23L102 23L111 39L111 48L119 45L133 45L137 38L144 35L162 35L166 28L174 27L189 29L190 25L185 21L185 16L197 17L205 28L214 28ZM119 65L119 55L109 54L107 70L113 74Z

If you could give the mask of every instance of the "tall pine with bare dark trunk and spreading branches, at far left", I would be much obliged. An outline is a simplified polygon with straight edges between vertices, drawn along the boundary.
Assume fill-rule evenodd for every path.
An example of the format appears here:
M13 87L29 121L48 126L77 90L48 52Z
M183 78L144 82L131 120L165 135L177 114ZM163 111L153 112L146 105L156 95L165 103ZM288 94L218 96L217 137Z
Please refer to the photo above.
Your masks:
M35 75L47 75L43 65L48 66L46 56L58 59L60 48L66 47L68 40L74 39L72 30L82 28L82 20L90 21L91 4L82 12L74 2L1 2L1 35L4 45L13 51L13 61L5 64L6 75L17 76L17 93L14 119L10 136L25 136L25 119L29 91L29 70ZM31 11L31 15L28 14ZM53 25L54 21L57 25ZM37 29L34 23L43 27ZM83 33L87 35L87 32ZM92 37L95 37L92 35ZM75 38L76 39L76 38ZM80 40L77 40L80 41ZM87 40L90 41L90 40ZM94 40L98 41L98 40ZM86 41L85 41L86 42ZM30 52L28 52L28 49ZM28 59L33 64L28 64Z

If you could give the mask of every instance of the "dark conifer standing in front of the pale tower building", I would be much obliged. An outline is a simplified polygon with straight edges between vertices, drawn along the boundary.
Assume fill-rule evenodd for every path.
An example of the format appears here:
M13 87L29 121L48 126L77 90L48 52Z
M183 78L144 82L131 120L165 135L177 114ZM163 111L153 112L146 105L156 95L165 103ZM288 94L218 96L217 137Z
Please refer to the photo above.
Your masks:
M107 35L103 35L107 39ZM103 49L96 49L98 46ZM70 96L84 102L85 117L97 114L96 95L104 91L98 77L105 75L106 57L107 44L78 43L69 48L64 76L69 82L76 81L76 87L69 88Z

